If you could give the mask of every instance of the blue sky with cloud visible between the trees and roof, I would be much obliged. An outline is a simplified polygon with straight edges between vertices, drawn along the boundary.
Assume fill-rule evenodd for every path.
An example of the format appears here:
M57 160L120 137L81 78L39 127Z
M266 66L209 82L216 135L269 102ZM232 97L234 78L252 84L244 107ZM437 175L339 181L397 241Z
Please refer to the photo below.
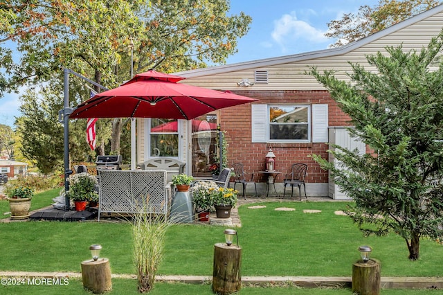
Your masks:
M378 0L231 0L230 13L252 17L248 34L228 64L325 49L334 40L324 37L327 22ZM0 123L12 126L19 116L19 94L0 98Z

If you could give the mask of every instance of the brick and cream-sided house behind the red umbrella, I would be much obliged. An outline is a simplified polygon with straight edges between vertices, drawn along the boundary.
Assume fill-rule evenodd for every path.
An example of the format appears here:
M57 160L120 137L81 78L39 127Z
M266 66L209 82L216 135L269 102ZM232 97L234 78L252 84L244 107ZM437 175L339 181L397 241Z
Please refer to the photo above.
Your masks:
M359 63L371 70L365 55L386 53L386 46L399 46L404 51L419 51L443 28L443 5L437 6L378 33L341 48L312 51L296 55L254 60L223 66L212 66L175 73L181 82L210 89L229 90L242 96L257 98L253 104L239 105L215 111L200 120L219 125L225 132L230 165L242 162L248 172L264 170L269 148L275 154L275 170L282 172L276 179L281 183L292 163L306 163L307 194L330 195L328 172L320 169L311 154L327 158L327 143L334 141L331 129L347 125L348 117L338 108L328 91L313 77L305 74L310 66L318 70L334 70L336 77L348 80L350 64ZM251 84L253 84L251 86ZM155 124L154 124L155 125ZM138 161L153 157L150 145L152 120L138 124ZM195 148L196 130L190 121L179 120L174 136L177 152L173 157L185 161L188 173L198 176L198 167L207 167L210 154ZM206 131L207 141L208 130ZM203 132L204 133L204 132ZM201 140L201 145L204 145ZM208 144L208 143L207 143ZM203 150L204 160L196 160ZM201 153L201 152L200 152ZM206 166L205 166L206 165ZM266 181L257 173L255 181ZM280 186L278 189L282 189Z

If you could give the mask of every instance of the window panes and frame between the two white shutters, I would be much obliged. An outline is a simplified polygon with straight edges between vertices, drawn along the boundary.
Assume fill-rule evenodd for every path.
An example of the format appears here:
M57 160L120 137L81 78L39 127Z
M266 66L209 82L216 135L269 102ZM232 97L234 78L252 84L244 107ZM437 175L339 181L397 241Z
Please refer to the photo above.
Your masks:
M270 141L309 141L309 105L269 106Z

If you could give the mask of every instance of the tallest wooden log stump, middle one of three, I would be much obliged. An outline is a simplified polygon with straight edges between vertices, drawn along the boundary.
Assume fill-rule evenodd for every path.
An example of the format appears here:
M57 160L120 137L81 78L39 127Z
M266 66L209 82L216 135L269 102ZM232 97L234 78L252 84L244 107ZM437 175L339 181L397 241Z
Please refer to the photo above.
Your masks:
M237 292L242 285L240 267L242 265L242 248L234 244L214 245L213 292L230 294Z

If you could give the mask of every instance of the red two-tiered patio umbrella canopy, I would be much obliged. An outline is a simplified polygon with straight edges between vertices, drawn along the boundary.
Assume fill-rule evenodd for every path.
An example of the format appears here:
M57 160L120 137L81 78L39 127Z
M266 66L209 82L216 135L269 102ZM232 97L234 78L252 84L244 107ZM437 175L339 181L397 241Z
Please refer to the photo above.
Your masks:
M216 109L257 101L229 91L177 83L183 77L154 70L137 74L120 87L96 94L69 118L197 118Z

